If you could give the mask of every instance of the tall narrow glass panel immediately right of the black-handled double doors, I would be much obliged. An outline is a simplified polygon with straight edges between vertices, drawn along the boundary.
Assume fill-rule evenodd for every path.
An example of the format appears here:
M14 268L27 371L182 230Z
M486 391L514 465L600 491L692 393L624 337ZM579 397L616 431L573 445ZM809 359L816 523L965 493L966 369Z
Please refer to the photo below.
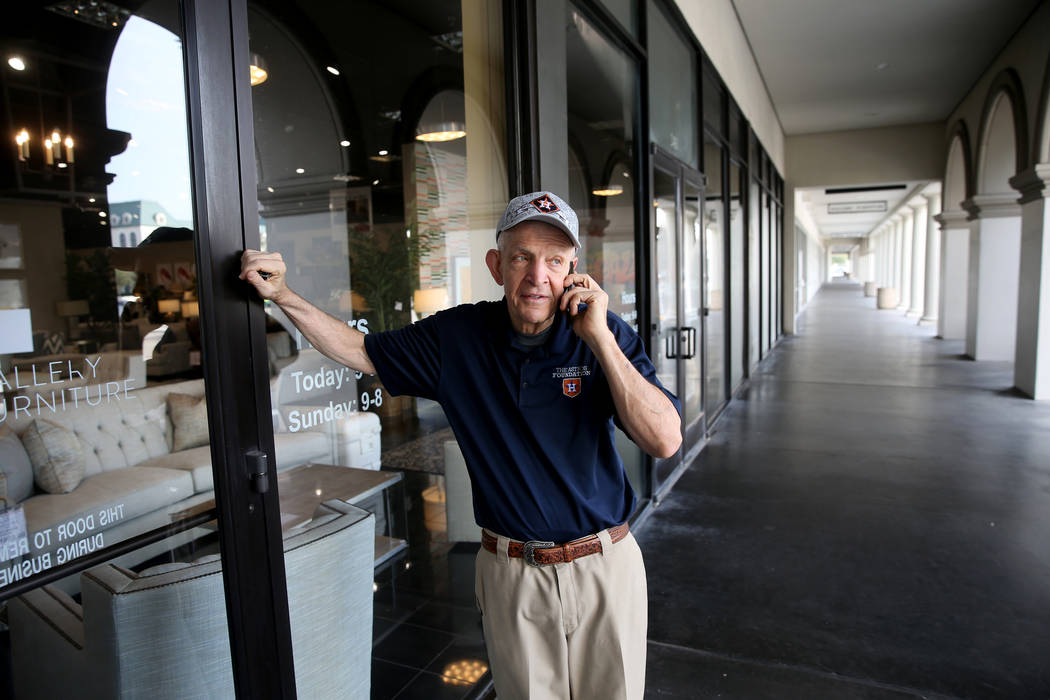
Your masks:
M714 416L726 401L726 194L722 189L722 149L707 141L704 165L708 189L704 206L704 274L707 310L705 407Z

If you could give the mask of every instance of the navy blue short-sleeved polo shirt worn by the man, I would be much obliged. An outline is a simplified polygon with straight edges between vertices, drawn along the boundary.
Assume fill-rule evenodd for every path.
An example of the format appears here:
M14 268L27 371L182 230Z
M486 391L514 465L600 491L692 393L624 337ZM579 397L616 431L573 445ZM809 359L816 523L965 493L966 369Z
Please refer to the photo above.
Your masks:
M608 322L627 358L680 413L638 335L611 313ZM392 395L441 404L466 460L481 527L565 543L630 516L634 492L616 453L609 384L564 314L534 348L518 340L505 300L370 334L364 348Z

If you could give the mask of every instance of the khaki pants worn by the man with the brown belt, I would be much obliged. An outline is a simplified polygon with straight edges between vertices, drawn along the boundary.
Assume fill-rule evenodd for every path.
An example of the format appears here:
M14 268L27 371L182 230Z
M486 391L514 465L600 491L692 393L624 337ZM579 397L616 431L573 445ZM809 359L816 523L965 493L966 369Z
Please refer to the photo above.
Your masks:
M628 534L570 564L530 567L478 552L475 591L500 700L640 700L648 597L642 552Z

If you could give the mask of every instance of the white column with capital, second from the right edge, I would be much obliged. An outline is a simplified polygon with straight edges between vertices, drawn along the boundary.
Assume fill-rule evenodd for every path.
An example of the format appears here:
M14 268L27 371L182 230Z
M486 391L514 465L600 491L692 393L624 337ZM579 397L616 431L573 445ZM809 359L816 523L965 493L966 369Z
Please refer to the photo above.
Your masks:
M970 214L966 355L1013 362L1017 340L1021 205L1016 193L978 194Z

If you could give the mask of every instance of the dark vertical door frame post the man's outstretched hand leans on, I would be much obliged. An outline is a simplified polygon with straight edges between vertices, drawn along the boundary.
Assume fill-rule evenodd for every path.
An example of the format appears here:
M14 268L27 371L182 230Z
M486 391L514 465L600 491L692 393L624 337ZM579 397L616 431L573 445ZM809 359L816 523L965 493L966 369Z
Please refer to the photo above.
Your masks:
M181 0L202 364L237 697L294 698L262 303L237 278L258 248L246 0ZM232 70L231 70L232 66ZM265 469L249 475L249 463Z

